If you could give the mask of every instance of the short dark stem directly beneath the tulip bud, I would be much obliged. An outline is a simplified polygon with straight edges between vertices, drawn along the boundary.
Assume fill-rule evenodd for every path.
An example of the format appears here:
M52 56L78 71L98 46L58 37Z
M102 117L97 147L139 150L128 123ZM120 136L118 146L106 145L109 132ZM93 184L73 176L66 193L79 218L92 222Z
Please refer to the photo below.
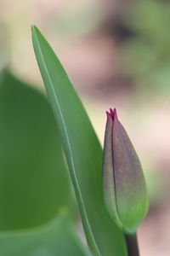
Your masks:
M139 256L139 246L138 246L137 235L125 234L125 239L127 242L128 256Z

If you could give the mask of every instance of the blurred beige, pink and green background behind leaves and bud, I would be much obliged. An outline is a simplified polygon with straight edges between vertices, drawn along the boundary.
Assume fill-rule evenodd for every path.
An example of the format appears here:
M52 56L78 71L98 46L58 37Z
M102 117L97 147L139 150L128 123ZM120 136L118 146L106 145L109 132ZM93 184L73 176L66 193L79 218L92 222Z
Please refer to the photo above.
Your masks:
M45 94L31 24L59 56L102 144L105 111L117 108L149 187L150 212L139 229L141 255L169 255L170 1L1 0L0 68L9 67Z

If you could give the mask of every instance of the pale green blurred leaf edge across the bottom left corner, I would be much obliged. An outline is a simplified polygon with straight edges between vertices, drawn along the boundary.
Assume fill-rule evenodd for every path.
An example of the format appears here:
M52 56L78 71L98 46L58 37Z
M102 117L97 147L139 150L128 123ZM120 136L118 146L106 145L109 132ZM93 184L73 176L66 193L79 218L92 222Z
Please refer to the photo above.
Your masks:
M3 256L90 256L65 215L37 229L0 233Z

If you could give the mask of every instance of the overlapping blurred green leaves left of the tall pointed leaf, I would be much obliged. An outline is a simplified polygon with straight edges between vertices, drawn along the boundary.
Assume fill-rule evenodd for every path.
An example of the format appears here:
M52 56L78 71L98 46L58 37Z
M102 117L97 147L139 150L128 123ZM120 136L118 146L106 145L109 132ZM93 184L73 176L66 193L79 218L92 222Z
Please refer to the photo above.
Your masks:
M71 186L52 111L8 70L0 120L0 254L89 256L71 224Z

